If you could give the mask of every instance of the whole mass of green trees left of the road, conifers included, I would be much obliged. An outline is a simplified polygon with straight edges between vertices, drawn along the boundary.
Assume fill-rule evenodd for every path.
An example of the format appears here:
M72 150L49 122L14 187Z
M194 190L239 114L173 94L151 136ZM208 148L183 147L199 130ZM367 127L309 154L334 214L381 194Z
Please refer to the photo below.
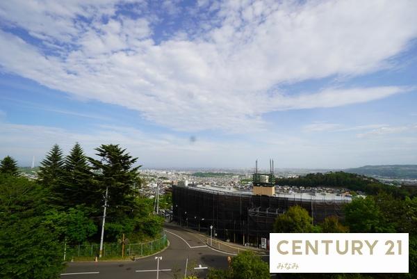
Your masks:
M1 161L8 171L0 172L0 278L58 278L64 247L99 241L106 186L106 241L122 234L143 241L161 233L163 218L152 214L152 200L133 191L141 183L137 158L118 145L97 151L100 159L88 159L76 143L64 159L54 145L36 182L14 176L12 158Z

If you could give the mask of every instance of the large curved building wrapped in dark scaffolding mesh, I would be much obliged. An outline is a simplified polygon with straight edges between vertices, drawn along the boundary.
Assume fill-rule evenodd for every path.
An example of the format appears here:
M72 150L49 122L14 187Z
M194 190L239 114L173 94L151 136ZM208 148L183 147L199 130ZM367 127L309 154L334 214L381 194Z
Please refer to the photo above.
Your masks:
M217 186L172 186L174 221L208 234L213 225L213 236L258 246L262 237L269 239L275 218L293 205L304 207L314 223L323 221L326 216L342 217L342 206L350 202L349 198L275 193L272 164L270 173L258 173L256 166L252 191Z

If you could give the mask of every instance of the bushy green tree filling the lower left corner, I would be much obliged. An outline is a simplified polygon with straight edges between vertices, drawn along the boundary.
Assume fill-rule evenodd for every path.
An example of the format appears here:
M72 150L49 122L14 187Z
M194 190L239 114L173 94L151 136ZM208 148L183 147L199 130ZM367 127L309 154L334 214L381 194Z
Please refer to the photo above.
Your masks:
M41 186L0 175L0 278L58 278L63 250L56 232L44 223L48 209Z

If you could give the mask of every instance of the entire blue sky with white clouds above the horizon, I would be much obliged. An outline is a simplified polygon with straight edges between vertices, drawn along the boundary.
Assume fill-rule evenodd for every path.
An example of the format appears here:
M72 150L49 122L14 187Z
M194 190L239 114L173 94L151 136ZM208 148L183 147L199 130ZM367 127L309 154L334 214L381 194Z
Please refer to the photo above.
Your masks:
M416 14L416 1L1 1L0 157L28 166L78 141L89 155L119 143L146 168L417 164Z

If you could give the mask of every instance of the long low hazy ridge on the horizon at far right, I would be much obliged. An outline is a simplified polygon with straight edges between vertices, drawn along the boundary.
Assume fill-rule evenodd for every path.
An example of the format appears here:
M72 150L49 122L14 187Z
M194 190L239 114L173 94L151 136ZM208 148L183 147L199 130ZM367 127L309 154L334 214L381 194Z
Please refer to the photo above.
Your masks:
M362 166L360 168L348 168L343 171L372 177L417 179L417 165Z

